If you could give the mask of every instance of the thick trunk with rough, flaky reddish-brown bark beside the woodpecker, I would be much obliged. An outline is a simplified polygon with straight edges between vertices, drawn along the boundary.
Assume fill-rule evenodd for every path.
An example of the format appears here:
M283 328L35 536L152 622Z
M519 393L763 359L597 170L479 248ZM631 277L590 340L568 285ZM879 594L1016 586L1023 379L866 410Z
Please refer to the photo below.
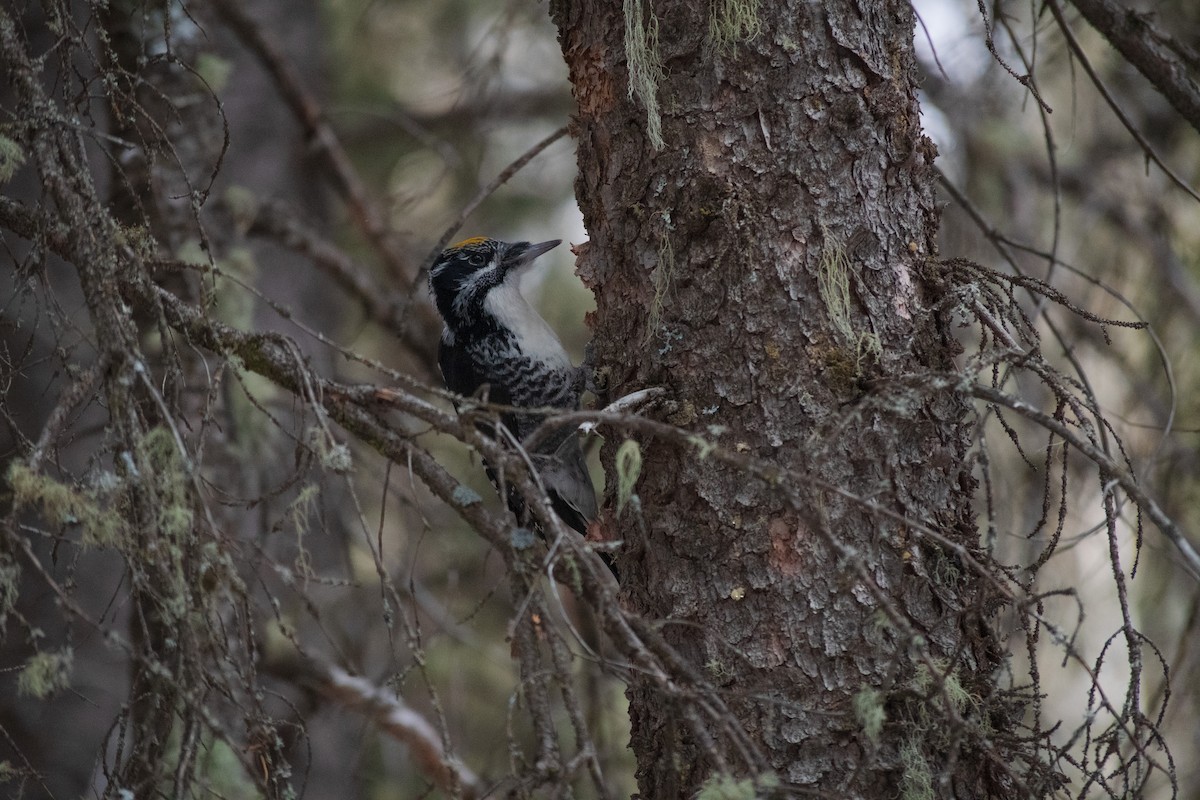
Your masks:
M1032 796L996 736L1014 709L994 687L991 593L964 561L984 559L974 419L930 379L960 347L929 281L936 151L908 2L552 13L608 393L664 386L667 421L780 470L770 486L643 440L628 602L668 620L784 786ZM732 769L677 724L685 709L629 698L644 796Z

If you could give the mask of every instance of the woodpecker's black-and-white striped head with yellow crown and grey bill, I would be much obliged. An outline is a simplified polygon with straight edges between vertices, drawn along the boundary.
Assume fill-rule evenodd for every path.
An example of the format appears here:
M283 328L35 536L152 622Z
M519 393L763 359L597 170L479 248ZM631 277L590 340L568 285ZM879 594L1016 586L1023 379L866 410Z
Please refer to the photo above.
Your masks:
M430 269L430 288L442 319L451 330L475 325L488 291L515 281L535 258L560 242L509 243L476 236L445 248Z

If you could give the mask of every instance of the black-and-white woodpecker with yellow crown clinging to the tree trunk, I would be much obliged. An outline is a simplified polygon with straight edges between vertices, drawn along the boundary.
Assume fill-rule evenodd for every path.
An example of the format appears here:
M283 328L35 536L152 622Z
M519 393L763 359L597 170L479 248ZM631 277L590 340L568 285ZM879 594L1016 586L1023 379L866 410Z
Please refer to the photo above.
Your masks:
M451 245L433 263L430 288L445 323L438 366L448 389L472 396L487 386L491 402L518 408L580 407L583 368L571 363L558 336L517 287L534 259L559 243L558 239L530 245L480 236ZM523 443L541 417L508 411L500 422ZM588 522L596 516L596 499L575 431L540 438L529 457L554 512L587 534ZM510 498L510 506L520 513L520 500Z

